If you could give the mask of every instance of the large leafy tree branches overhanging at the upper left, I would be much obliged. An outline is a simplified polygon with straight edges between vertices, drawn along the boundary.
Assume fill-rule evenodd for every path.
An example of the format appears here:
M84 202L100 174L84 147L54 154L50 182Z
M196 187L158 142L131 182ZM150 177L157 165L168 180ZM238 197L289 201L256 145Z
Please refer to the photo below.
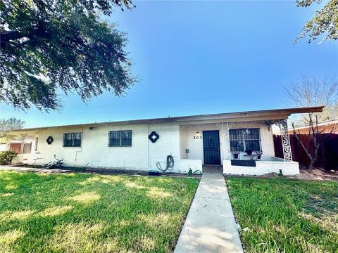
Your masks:
M58 91L89 100L121 96L135 79L126 36L100 19L130 0L1 0L0 102L18 109L61 106Z

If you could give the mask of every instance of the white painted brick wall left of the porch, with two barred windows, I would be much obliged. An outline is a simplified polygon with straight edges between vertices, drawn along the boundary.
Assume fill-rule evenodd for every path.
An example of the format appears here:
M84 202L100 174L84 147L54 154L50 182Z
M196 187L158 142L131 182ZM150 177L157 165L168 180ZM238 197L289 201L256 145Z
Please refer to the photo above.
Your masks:
M132 130L132 147L108 147L108 131ZM160 136L156 143L151 143L148 135L156 131ZM82 146L80 148L63 147L63 134L82 132ZM32 159L41 157L37 164L44 164L54 160L63 159L68 166L96 168L116 168L149 170L155 169L156 162L163 162L165 167L167 155L173 155L175 166L173 171L180 171L180 130L178 124L134 124L121 126L101 126L74 129L47 129L39 131L39 144L37 153L20 155L15 162L32 164ZM46 138L52 136L54 142L46 143ZM148 151L149 148L149 151Z

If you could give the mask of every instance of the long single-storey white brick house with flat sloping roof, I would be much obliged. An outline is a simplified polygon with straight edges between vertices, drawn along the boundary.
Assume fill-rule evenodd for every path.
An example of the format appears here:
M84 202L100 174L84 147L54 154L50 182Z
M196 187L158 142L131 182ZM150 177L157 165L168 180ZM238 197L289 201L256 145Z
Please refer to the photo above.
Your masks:
M287 118L323 107L259 110L187 117L38 127L8 131L15 163L63 159L70 167L157 170L171 155L175 173L223 165L227 174L299 174L292 162ZM284 160L275 157L272 124L284 133ZM250 155L251 153L251 155ZM236 159L235 159L236 158Z

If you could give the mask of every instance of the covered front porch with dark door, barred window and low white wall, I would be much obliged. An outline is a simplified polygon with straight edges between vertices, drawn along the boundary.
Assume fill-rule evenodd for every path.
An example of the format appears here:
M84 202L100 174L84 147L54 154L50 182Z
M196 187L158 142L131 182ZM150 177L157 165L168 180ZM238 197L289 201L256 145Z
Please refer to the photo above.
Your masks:
M224 174L299 174L287 135L282 138L284 159L275 157L273 124L287 131L287 119L181 124L181 172L221 168Z

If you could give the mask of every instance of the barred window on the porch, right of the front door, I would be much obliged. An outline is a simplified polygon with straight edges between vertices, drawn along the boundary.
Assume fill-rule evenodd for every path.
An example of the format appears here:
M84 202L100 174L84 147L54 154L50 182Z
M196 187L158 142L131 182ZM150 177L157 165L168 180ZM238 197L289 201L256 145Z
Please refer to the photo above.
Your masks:
M261 151L259 129L230 129L231 152Z

